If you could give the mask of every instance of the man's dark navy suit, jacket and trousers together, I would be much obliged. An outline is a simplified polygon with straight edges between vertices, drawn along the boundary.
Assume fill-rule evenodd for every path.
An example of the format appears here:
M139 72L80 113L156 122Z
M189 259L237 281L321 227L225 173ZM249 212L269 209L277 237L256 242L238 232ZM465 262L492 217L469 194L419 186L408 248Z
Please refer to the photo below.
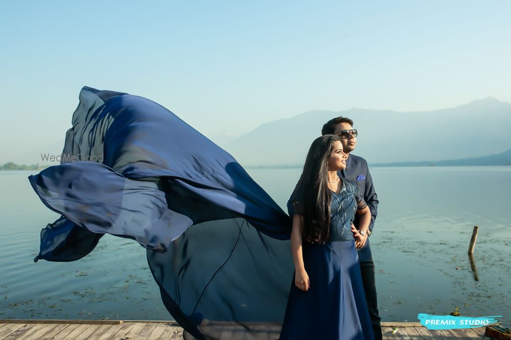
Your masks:
M373 231L376 215L378 214L378 196L376 195L375 187L373 185L373 178L369 173L367 162L359 156L350 154L346 160L346 169L339 170L341 178L346 178L356 182L357 188L364 196L364 200L371 211L371 222L369 229ZM355 219L355 226L358 228L358 220ZM373 254L371 253L371 246L367 239L365 245L357 249L358 257L360 260L360 269L362 271L362 281L364 284L364 292L367 299L367 306L369 308L369 315L371 323L373 324L373 332L375 338L381 339L381 323L378 312L378 302L376 298L376 283L375 283L375 263L373 261Z

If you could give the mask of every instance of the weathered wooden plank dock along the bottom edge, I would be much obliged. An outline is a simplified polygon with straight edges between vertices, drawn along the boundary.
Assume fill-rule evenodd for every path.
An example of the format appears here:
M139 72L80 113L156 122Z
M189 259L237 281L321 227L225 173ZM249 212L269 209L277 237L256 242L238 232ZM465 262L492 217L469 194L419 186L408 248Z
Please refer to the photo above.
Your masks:
M280 332L275 326L259 326L257 334L247 336L232 327L213 327L222 340L272 340ZM416 322L382 322L382 332L384 339L469 340L482 339L484 328L428 330ZM163 321L0 320L0 340L180 340L182 335L177 323Z

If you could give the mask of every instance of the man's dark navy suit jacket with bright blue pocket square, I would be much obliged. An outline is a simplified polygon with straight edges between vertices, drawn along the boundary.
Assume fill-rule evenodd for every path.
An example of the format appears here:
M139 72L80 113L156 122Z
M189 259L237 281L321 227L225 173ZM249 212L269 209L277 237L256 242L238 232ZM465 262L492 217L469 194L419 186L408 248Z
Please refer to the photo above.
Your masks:
M358 190L364 197L369 210L371 211L371 222L369 223L369 229L373 231L376 215L378 215L378 196L376 195L375 186L373 185L373 178L369 173L367 162L359 156L350 154L350 157L346 160L346 169L339 170L339 176L352 180L357 184ZM358 219L355 218L355 226L358 228ZM365 243L364 247L357 249L358 257L360 262L372 262L373 254L371 253L371 246L369 239Z

